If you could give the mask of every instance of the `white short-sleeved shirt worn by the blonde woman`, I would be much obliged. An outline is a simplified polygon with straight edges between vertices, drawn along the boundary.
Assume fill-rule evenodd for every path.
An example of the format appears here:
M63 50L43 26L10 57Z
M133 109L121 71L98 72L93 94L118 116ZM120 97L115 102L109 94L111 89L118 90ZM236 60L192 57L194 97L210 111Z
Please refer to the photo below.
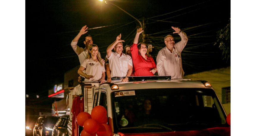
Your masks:
M93 61L90 59L85 59L81 66L85 67L85 73L87 75L93 75L94 78L89 80L85 78L85 81L98 81L102 78L102 72L105 72L105 67L102 66L99 61Z

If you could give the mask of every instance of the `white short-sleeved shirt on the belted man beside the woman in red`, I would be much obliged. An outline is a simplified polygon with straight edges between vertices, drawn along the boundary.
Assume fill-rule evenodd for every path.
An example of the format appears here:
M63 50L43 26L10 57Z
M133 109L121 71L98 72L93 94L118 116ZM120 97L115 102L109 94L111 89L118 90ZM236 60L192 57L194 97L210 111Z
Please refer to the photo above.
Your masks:
M132 67L132 57L122 53L121 56L112 52L107 59L109 61L109 68L111 71L111 77L125 77L128 72L128 65Z

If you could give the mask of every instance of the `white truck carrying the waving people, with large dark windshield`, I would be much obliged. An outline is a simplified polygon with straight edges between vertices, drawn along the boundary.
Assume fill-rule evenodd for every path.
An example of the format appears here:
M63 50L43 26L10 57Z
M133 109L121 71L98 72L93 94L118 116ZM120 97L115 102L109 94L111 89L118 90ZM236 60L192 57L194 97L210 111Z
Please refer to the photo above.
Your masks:
M129 77L129 82L103 84L84 82L85 111L90 113L94 106L104 106L107 123L115 136L230 135L227 115L210 83L157 78ZM72 99L69 103L72 106Z

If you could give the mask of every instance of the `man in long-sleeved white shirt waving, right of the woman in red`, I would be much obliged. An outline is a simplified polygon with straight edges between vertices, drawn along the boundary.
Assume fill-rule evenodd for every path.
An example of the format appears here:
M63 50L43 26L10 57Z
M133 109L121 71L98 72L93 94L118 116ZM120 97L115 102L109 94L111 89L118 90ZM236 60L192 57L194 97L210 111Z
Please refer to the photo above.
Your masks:
M157 54L157 72L159 76L171 76L171 79L183 79L184 71L182 69L181 51L188 42L186 33L179 27L171 27L178 33L181 41L174 42L174 37L167 35L164 38L166 47L162 48Z

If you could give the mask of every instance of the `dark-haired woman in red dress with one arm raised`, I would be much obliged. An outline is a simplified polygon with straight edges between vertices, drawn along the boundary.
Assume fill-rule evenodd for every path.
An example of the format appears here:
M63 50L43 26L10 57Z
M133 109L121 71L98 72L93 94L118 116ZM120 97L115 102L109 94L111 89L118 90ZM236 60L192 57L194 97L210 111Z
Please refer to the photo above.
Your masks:
M137 29L136 36L131 46L132 62L135 76L153 76L157 72L157 66L154 59L147 56L147 44L139 43L138 39L143 32L142 28Z

